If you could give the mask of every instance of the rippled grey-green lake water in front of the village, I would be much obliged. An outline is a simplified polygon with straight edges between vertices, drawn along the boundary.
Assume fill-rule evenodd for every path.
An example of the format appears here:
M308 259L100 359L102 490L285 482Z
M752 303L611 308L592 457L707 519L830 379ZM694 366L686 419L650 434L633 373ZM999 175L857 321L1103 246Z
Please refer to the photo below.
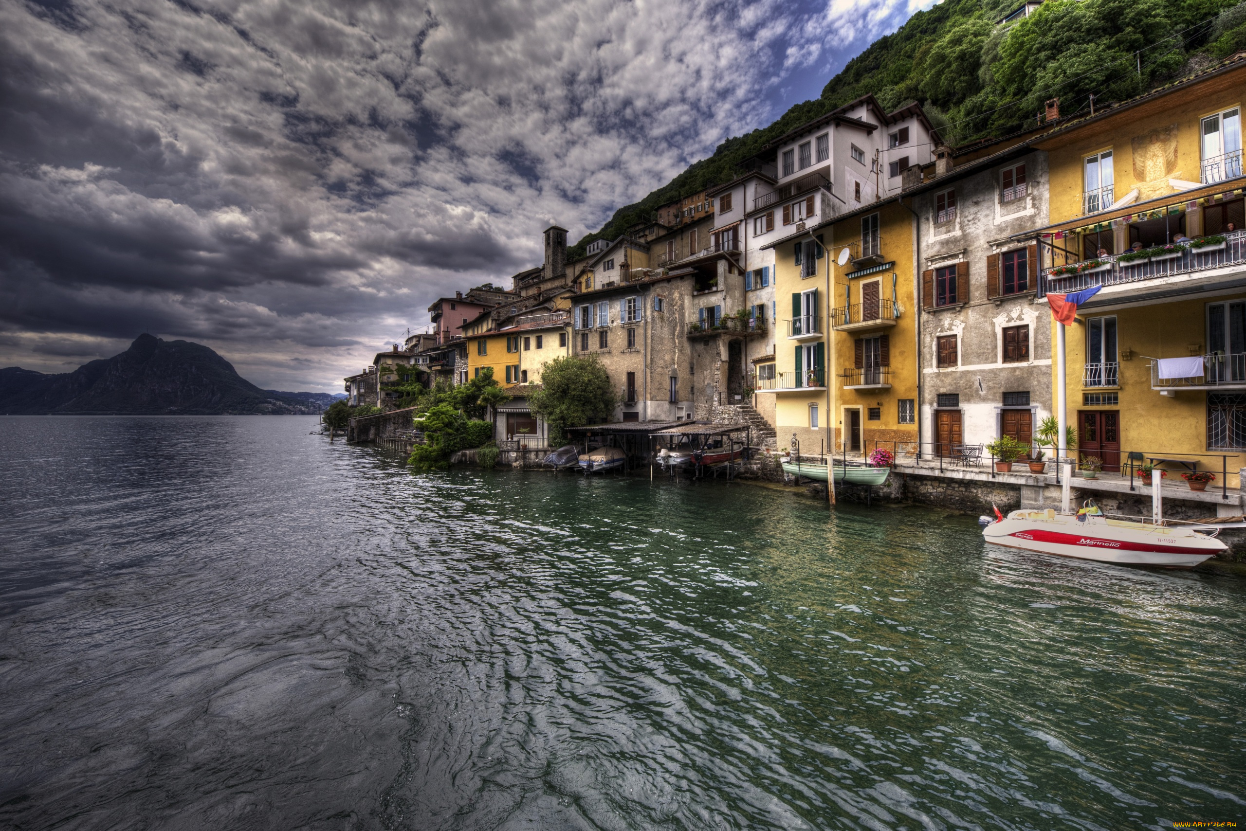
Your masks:
M1246 592L761 486L0 419L0 827L1246 814Z

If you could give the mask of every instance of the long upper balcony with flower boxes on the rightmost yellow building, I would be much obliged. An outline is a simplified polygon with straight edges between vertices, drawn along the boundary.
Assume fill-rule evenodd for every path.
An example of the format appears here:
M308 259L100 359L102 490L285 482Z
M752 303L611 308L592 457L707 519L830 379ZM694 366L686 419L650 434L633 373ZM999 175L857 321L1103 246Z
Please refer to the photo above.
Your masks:
M1113 287L1144 283L1163 278L1191 275L1231 265L1246 265L1246 230L1221 234L1222 243L1191 248L1187 243L1165 245L1164 250L1150 249L1153 254L1138 257L1100 257L1098 259L1043 269L1039 278L1039 295L1047 292L1068 293L1093 285ZM1195 240L1197 242L1197 240ZM1124 257L1134 257L1121 262Z

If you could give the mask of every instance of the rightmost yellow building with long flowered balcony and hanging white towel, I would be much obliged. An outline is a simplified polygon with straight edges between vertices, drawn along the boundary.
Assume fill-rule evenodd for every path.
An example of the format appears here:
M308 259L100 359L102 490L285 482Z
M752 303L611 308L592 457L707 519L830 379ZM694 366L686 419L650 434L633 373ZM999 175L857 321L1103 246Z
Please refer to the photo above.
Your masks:
M1079 453L1105 471L1170 460L1170 481L1196 467L1239 486L1244 92L1239 56L1034 142L1052 222L1037 229L1038 297L1099 287L1067 329L1064 391Z

